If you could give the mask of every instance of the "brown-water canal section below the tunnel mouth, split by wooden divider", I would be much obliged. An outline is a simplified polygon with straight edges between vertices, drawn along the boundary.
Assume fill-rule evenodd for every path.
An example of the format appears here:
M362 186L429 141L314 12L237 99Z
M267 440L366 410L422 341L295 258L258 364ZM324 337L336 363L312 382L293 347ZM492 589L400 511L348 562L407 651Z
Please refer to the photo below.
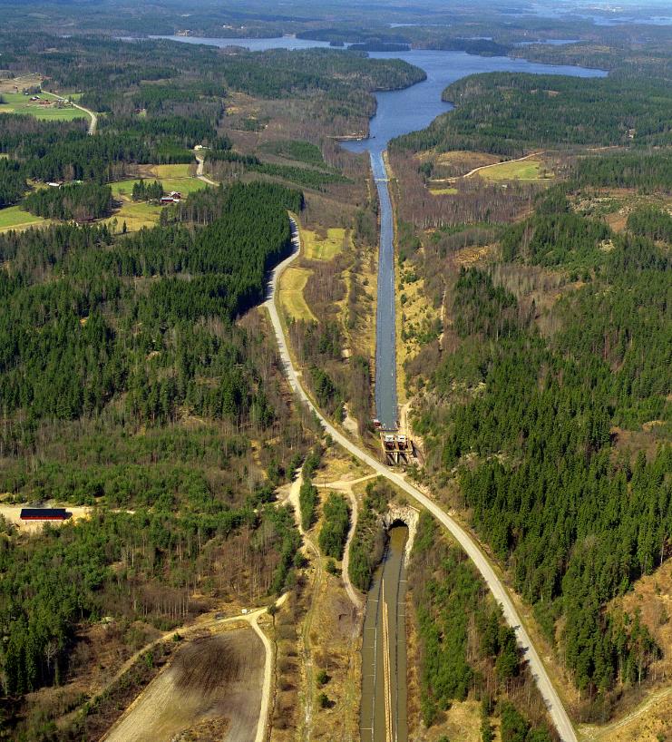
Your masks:
M362 742L406 742L406 542L394 524L366 596L362 643Z

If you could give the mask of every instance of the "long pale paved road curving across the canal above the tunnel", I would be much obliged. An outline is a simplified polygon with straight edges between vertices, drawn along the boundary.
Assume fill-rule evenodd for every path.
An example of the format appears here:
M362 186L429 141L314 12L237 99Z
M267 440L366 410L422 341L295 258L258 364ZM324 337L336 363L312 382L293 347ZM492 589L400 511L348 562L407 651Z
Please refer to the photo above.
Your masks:
M299 399L305 403L319 418L322 426L326 430L326 433L336 441L336 443L342 445L346 451L350 454L355 455L360 461L368 464L377 474L381 474L386 479L396 484L400 489L404 490L405 493L411 495L417 503L420 503L429 513L432 513L434 518L442 523L442 525L453 534L453 538L460 543L463 550L467 553L469 558L476 565L476 569L481 572L483 579L488 585L488 588L492 592L495 600L502 606L504 614L504 620L511 626L516 632L516 639L518 644L524 652L525 658L530 663L530 669L532 677L537 683L537 687L541 692L541 696L549 709L550 718L556 727L560 739L562 742L577 742L577 736L574 731L574 727L571 725L567 711L565 710L558 692L553 687L550 681L550 677L541 658L537 653L537 650L532 645L530 635L528 634L525 627L522 625L521 618L518 615L518 611L513 605L511 597L504 587L504 584L497 576L495 571L492 569L490 561L485 557L478 544L474 541L472 536L466 532L463 527L456 521L447 515L442 508L434 503L427 495L422 493L413 484L408 483L404 477L397 474L393 470L381 464L370 454L355 445L346 436L336 430L334 425L331 425L324 415L317 409L315 405L310 401L306 391L299 382L297 376L297 369L293 366L289 351L287 349L287 340L280 322L278 315L278 308L276 307L276 291L278 288L279 278L282 272L287 266L297 258L298 249L300 249L297 224L294 220L291 220L292 231L294 233L294 244L297 248L295 252L289 256L289 258L283 260L277 268L272 272L269 285L268 285L268 299L265 306L268 308L268 314L270 315L273 329L278 340L278 349L282 365L287 375L287 380L290 386L297 394Z

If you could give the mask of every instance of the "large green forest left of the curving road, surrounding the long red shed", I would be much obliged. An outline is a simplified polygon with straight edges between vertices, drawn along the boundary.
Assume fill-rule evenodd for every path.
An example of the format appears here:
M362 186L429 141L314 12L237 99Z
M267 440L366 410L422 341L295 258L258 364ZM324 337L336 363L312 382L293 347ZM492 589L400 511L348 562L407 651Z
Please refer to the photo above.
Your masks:
M108 187L69 186L37 191L36 208L67 205L71 190L109 198ZM287 210L299 212L303 197L260 182L213 194L198 228L179 221L114 238L104 226L63 224L0 235L12 268L0 273L0 488L20 500L102 506L34 542L5 527L5 693L58 684L83 620L112 613L170 626L203 610L190 602L195 587L252 533L264 537L249 547L243 590L287 584L298 534L288 513L265 503L296 468L305 434L270 384L275 360L260 329L233 320L263 298L268 269L287 253ZM202 416L200 434L180 432L185 415ZM208 434L205 421L229 433ZM141 425L155 433L132 443ZM240 488L248 435L264 430L285 442L263 456L268 483L258 472ZM25 465L31 451L37 469ZM215 479L196 464L213 454ZM120 581L111 565L131 554ZM56 562L59 571L41 566Z

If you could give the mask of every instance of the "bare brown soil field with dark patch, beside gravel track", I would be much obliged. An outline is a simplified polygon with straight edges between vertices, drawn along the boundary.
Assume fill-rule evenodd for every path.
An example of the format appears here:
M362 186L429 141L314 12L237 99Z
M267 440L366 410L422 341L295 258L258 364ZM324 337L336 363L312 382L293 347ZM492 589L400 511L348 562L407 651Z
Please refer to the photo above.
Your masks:
M263 677L264 648L251 628L195 639L180 649L103 739L254 740Z

